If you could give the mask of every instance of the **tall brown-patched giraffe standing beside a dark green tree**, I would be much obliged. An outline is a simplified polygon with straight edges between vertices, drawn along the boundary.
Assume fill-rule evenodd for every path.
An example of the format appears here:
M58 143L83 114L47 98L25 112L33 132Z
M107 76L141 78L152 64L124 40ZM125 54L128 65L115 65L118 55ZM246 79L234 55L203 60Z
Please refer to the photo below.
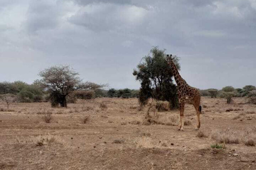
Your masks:
M181 75L179 74L179 71L174 64L172 58L172 55L167 55L167 62L172 68L173 77L175 79L175 82L178 86L178 98L179 98L179 104L180 104L180 123L179 123L179 130L183 131L183 125L184 125L184 108L185 108L185 101L190 101L190 104L193 104L196 109L196 115L197 115L197 126L196 130L200 128L200 113L202 111L202 107L200 106L200 100L201 95L200 91L194 87L191 87L187 84L187 82L182 79Z

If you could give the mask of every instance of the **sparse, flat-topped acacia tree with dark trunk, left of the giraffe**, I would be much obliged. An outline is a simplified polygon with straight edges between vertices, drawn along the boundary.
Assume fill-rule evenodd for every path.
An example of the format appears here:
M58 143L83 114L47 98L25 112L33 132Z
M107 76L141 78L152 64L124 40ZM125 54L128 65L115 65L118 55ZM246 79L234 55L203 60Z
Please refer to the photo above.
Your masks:
M36 80L45 90L50 92L52 107L67 107L66 97L74 90L92 90L102 87L92 82L82 82L70 66L52 66L39 72L41 80Z

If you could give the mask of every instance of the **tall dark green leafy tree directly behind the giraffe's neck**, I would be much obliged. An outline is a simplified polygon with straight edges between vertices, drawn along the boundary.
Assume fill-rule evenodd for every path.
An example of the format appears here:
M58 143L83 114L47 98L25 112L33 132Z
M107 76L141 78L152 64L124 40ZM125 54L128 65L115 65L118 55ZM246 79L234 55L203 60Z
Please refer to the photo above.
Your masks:
M165 50L153 47L150 54L142 58L133 71L136 80L140 81L139 101L141 105L147 104L149 98L166 100L170 102L171 108L178 107L177 86L173 83L171 66L166 61ZM180 65L177 57L175 64L178 69Z

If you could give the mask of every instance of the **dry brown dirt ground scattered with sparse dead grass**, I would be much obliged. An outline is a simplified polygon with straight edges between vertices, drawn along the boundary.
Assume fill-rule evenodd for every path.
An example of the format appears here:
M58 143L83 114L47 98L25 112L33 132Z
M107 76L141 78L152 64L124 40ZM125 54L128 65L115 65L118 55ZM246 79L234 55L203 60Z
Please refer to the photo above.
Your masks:
M137 99L79 101L67 109L15 103L9 111L1 103L0 169L256 169L255 105L245 98L201 103L199 131L192 105L185 108L188 125L178 131L178 110L151 113L162 123L145 125L147 107L138 109ZM223 145L221 135L237 140Z

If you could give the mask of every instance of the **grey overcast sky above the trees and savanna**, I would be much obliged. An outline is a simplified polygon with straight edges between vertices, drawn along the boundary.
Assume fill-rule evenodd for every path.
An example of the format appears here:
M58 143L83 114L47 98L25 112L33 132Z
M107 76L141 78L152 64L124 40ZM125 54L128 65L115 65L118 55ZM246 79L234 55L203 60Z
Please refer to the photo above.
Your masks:
M0 0L0 81L70 64L86 81L139 89L152 46L200 89L256 85L256 0Z

